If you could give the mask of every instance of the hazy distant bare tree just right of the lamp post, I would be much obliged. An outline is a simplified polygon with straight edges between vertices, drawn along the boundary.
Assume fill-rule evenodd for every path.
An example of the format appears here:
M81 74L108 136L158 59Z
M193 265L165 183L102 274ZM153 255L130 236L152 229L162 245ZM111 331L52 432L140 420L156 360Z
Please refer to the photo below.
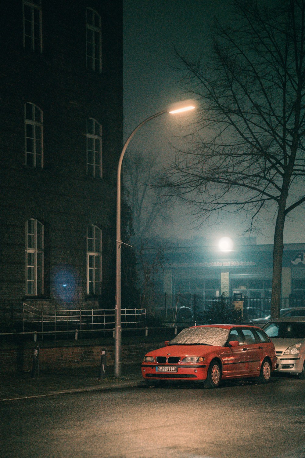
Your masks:
M161 199L161 189L154 186L158 173L155 155L131 151L124 161L124 188L133 216L134 235L143 239L159 233L171 217Z

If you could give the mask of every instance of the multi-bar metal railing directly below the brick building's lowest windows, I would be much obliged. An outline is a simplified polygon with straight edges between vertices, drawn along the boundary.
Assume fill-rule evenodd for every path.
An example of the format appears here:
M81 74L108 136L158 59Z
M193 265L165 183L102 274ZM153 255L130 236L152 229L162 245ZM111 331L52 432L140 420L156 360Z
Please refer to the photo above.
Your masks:
M32 305L23 303L22 331L69 331L78 329L105 330L114 327L115 311L113 309L78 309L43 311ZM146 310L121 309L122 327L144 326Z

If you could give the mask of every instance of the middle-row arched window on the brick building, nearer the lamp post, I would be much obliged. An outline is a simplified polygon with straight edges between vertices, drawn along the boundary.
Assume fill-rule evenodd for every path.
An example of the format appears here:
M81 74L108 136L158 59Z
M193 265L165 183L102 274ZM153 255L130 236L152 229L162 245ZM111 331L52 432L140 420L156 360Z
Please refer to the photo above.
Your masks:
M87 175L102 178L102 126L87 120Z

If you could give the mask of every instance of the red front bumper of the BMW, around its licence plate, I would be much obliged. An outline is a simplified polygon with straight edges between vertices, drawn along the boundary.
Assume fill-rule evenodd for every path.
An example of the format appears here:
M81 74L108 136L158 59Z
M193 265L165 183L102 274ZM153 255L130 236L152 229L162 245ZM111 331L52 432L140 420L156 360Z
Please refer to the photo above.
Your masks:
M169 364L176 366L177 372L157 372L157 366L166 366L167 364L141 364L142 376L145 380L183 380L188 382L203 381L208 375L208 366L205 364L185 365Z

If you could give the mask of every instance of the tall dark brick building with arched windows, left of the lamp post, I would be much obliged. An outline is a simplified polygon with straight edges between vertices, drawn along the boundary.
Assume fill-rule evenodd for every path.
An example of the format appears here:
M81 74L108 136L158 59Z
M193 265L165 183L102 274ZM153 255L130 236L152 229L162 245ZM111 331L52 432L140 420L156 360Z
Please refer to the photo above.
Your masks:
M0 307L114 305L122 0L11 0L0 19Z

